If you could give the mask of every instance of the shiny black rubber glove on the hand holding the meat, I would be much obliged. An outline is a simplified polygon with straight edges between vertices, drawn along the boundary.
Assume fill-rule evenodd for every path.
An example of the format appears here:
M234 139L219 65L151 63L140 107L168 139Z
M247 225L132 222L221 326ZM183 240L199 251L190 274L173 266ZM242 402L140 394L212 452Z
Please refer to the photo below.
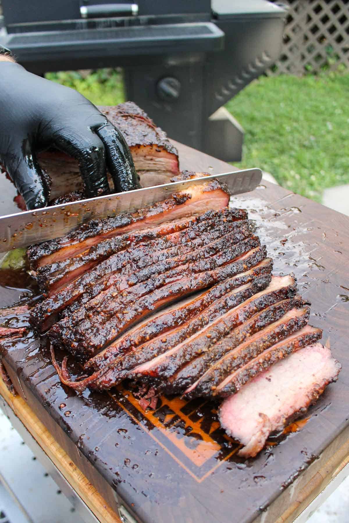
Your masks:
M74 89L0 62L0 164L28 209L48 203L49 188L36 153L54 146L79 163L89 197L139 187L129 147L107 118Z

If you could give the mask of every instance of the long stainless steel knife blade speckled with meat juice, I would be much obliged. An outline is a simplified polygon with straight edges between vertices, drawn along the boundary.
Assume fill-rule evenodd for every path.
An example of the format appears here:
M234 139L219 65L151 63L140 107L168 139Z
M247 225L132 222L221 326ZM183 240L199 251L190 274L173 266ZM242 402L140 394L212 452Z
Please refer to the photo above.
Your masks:
M231 195L237 195L255 189L262 179L262 171L260 169L237 170L64 203L38 211L8 214L0 218L0 253L59 238L91 218L106 218L122 211L134 212L141 207L168 198L174 192L215 178L227 185Z

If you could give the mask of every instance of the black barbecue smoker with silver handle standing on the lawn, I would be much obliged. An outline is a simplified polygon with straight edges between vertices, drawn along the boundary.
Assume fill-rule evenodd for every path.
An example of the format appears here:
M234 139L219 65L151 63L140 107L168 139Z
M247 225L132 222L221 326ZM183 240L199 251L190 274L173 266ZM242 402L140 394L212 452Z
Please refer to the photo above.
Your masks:
M273 64L285 10L265 0L2 0L0 43L29 71L122 66L126 98L171 138L241 160L222 108Z

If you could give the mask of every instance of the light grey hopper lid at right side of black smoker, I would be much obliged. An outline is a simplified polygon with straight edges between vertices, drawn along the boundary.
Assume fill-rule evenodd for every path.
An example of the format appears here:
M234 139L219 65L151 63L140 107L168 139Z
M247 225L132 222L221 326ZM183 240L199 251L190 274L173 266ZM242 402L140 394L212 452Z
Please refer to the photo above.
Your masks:
M286 6L285 6L286 7ZM267 0L211 0L213 16L228 18L282 18L286 10Z

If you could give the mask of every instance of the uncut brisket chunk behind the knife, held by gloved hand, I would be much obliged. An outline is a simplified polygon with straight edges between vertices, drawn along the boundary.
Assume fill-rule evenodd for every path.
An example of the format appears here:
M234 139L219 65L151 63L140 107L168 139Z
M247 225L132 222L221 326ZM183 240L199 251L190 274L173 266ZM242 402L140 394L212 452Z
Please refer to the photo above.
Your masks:
M147 113L130 101L98 108L125 137L142 187L166 184L171 177L179 175L177 149ZM38 158L52 181L51 198L69 191L84 191L76 160L56 151L39 153ZM110 187L113 187L109 173L108 179Z

